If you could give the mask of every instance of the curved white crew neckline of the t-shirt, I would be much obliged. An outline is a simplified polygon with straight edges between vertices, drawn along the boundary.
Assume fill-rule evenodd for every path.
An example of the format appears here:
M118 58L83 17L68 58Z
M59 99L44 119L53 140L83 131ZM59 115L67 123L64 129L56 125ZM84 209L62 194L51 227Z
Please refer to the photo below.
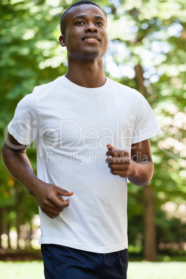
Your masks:
M69 79L63 75L60 76L62 81L64 81L67 85L70 87L74 87L74 89L81 91L81 92L92 92L92 93L99 93L106 90L106 87L108 87L108 78L105 76L105 84L103 84L101 87L83 87L80 85L77 85L76 83L72 83L72 81L69 81Z

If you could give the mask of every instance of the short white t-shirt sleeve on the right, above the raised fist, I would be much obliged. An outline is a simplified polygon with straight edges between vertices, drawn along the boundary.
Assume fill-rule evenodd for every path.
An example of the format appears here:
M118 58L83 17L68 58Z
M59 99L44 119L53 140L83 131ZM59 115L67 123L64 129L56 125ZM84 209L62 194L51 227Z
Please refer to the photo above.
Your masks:
M139 94L132 144L142 142L160 133L162 133L162 130L155 119L151 106L144 96Z

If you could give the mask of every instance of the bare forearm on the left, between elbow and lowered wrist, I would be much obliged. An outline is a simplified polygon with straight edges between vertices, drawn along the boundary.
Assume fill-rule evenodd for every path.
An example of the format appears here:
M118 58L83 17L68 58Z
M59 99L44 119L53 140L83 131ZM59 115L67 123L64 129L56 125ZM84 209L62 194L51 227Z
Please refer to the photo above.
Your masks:
M13 151L6 144L3 144L1 157L9 173L32 194L33 184L38 178L33 172L26 153Z

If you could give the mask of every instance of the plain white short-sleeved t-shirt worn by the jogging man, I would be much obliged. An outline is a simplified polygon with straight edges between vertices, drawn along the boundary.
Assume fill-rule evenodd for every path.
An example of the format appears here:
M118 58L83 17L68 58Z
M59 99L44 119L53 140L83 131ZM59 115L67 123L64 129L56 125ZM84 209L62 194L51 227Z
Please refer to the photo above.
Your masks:
M21 144L37 139L38 178L74 192L55 219L40 210L40 244L96 253L128 247L127 179L110 174L105 153L108 143L130 153L161 132L142 94L110 78L87 88L61 76L19 102L8 131Z

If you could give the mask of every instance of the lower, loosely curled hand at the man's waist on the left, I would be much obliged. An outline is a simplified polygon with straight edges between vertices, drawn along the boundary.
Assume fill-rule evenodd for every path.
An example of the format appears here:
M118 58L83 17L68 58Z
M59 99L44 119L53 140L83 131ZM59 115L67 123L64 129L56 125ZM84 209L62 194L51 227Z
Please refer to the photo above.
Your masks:
M60 212L69 206L69 199L64 201L62 196L72 196L73 194L58 186L44 183L42 180L39 180L33 189L33 196L42 212L52 219L58 217Z

